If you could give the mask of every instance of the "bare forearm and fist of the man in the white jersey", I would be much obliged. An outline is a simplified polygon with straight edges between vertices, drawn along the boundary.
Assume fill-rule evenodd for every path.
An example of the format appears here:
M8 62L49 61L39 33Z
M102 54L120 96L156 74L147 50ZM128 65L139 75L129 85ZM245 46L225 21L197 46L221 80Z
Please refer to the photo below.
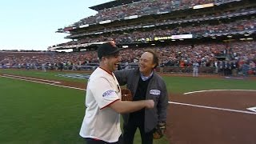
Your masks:
M110 104L110 107L118 112L119 114L131 113L143 108L152 109L154 108L153 100L142 100L142 101L121 101L118 100Z

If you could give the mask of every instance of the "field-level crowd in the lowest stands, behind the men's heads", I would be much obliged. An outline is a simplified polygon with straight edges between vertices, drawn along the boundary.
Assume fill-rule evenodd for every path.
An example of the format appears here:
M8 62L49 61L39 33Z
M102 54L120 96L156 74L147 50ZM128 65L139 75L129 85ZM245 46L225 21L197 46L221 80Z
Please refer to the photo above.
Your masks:
M150 48L150 47L147 47ZM122 63L137 63L143 50L147 48L127 48L121 52ZM162 47L151 47L156 50L160 56L160 66L192 66L193 62L198 62L201 67L216 67L216 73L224 71L225 67L229 70L244 70L243 67L248 64L246 71L255 74L256 63L256 42L231 42L226 43L202 43L196 45L173 45ZM216 56L227 57L226 60L218 60ZM91 63L98 63L95 50L71 53L18 53L18 52L0 52L1 67L26 67L37 69L38 66L46 65L52 69L58 69L60 64L73 69L79 69L79 66L86 66ZM73 68L72 68L73 67ZM226 73L230 74L230 72ZM247 74L247 72L244 72Z

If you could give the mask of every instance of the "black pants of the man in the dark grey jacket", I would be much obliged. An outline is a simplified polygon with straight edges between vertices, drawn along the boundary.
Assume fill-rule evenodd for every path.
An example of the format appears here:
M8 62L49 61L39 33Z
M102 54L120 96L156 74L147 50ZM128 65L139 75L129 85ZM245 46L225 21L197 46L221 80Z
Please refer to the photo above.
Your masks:
M138 118L130 118L129 122L123 126L123 143L133 144L134 134L138 128L141 134L142 144L153 144L153 130L149 133L145 133L144 127L144 118L140 120L138 120Z

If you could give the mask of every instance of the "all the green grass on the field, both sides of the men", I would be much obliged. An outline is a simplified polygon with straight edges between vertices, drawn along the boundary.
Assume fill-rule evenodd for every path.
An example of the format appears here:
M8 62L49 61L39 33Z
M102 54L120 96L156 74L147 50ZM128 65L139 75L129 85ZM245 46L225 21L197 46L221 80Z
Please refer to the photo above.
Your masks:
M57 77L65 72L0 70L0 74L20 74L72 82L86 80ZM222 78L163 77L172 94L194 90L250 89L256 81ZM84 116L85 91L0 77L0 143L82 143L78 132ZM135 144L141 142L136 134ZM166 138L154 144L167 144Z

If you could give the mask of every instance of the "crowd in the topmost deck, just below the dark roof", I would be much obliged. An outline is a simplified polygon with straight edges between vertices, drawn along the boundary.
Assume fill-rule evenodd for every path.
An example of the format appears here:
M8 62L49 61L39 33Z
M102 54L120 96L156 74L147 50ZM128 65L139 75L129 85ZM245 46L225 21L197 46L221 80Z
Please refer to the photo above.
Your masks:
M142 0L122 6L116 6L104 10L99 10L98 14L81 19L74 23L74 26L94 24L106 20L118 20L133 15L161 14L172 10L189 9L202 4L222 4L234 2L234 0ZM160 8L159 8L160 7Z

